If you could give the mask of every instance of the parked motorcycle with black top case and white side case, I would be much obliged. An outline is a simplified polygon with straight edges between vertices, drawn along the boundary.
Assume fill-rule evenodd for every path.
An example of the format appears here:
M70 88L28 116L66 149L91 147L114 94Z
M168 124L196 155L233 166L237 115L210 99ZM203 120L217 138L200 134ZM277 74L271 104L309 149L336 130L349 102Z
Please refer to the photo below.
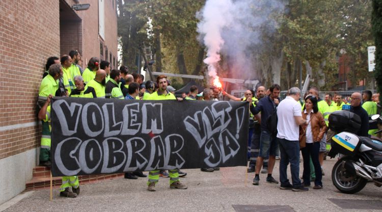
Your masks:
M381 119L379 115L371 118ZM333 136L328 156L341 155L333 167L332 181L345 194L361 191L369 181L377 187L382 186L382 140L351 133L357 132L360 127L361 118L349 111L336 111L329 116Z

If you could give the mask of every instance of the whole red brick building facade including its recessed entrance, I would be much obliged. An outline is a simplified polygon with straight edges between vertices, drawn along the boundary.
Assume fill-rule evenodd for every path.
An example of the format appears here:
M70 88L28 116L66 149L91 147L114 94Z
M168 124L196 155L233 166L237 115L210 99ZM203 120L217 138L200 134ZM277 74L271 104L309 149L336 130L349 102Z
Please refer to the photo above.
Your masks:
M40 146L36 100L48 57L79 50L85 69L100 57L102 42L117 61L116 3L102 1L105 40L98 36L98 0L0 1L0 160ZM70 11L75 2L91 6Z

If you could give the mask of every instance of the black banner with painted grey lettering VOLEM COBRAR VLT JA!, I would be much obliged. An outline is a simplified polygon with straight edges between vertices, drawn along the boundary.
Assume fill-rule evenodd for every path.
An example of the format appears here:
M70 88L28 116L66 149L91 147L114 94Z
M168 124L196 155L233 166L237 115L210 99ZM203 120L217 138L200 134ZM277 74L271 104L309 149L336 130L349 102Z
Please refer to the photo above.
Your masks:
M53 176L247 166L248 102L54 97Z

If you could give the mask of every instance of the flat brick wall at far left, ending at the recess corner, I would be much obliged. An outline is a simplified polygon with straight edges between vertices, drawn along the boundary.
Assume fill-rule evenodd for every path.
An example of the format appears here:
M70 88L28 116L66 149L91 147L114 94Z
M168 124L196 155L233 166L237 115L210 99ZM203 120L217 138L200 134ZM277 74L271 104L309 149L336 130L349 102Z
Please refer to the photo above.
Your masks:
M0 159L40 143L35 105L46 59L60 54L59 1L0 1Z

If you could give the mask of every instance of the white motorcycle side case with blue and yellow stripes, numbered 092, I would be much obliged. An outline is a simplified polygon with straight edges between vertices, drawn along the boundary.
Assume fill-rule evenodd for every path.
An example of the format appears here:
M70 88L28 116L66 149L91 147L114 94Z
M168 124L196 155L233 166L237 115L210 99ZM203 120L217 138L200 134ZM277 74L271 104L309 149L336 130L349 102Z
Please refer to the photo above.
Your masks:
M332 137L332 149L348 156L354 156L361 144L357 135L348 132L342 132Z

